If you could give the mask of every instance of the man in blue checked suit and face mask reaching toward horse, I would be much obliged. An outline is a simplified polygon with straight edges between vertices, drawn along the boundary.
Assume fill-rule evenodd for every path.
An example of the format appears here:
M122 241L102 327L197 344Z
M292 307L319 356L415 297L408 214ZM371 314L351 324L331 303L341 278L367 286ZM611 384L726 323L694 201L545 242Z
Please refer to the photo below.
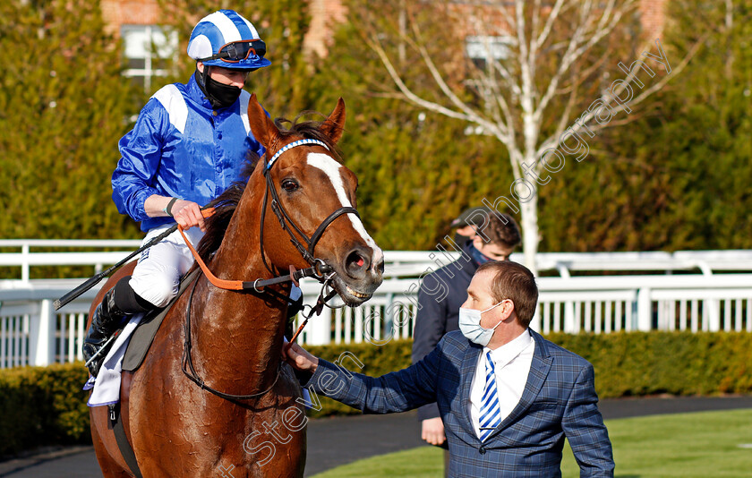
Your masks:
M613 476L593 365L528 329L537 300L530 270L492 261L467 287L460 330L406 369L368 377L297 344L286 349L286 360L312 372L304 385L364 413L437 402L449 441L449 476L559 477L565 437L580 476Z

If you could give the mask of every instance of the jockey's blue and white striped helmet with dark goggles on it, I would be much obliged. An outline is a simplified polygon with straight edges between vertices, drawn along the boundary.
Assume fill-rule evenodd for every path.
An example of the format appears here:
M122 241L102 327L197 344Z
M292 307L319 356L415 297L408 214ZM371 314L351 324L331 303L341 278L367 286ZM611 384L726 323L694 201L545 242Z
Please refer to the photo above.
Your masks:
M196 24L188 40L188 56L203 64L238 70L269 66L266 44L250 21L234 10L220 10Z

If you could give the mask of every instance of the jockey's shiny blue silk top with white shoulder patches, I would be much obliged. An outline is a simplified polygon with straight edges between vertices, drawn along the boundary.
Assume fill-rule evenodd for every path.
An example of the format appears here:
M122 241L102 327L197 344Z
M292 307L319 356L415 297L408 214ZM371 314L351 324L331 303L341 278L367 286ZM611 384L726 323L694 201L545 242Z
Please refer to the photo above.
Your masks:
M250 98L244 90L215 116L194 76L158 90L118 143L122 158L112 175L117 210L141 221L145 232L175 221L146 215L144 201L152 194L205 206L238 181L246 152L265 151L248 122Z

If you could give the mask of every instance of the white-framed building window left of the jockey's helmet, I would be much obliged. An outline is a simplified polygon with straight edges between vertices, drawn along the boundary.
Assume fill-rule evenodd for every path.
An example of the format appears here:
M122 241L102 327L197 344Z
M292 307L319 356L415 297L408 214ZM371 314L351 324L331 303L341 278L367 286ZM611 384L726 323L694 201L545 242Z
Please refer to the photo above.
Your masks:
M124 71L144 91L151 91L154 76L166 76L167 64L177 54L177 32L165 33L157 25L123 25L121 35L128 68Z

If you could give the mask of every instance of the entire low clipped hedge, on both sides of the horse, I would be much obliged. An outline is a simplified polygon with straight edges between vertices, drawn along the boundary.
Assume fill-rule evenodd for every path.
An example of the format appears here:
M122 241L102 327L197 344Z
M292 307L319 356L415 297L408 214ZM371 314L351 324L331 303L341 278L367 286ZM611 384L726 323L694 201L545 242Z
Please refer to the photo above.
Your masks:
M601 398L752 394L752 334L745 332L631 332L551 334L547 337L594 364ZM379 376L410 364L412 341L310 346L330 361L350 352L363 364L343 360L351 371ZM0 370L0 457L42 445L91 440L87 371L81 363ZM319 396L312 417L360 412Z

